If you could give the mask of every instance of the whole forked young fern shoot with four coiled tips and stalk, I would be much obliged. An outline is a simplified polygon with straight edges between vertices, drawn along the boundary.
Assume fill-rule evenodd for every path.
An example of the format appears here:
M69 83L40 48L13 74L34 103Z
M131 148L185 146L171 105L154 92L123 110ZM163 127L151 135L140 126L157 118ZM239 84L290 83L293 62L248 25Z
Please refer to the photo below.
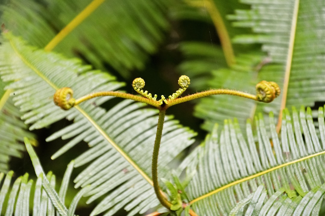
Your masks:
M157 100L156 94L152 97L151 93L148 93L148 91L143 91L143 88L145 86L145 81L142 78L134 79L132 86L134 90L143 97L139 97L136 95L119 92L119 91L104 91L104 92L91 93L79 99L74 99L73 91L71 88L68 87L60 88L54 94L54 103L64 110L68 110L74 106L77 106L78 104L80 104L85 100L94 97L100 97L100 96L114 96L114 97L121 97L125 99L131 99L134 101L149 104L159 109L157 132L156 132L156 138L155 138L155 143L154 143L153 153L152 153L151 172L152 172L153 187L156 196L159 199L160 203L169 210L172 207L172 203L167 200L166 195L162 192L161 188L159 187L158 171L157 171L158 153L160 148L160 142L162 139L162 128L163 128L166 109L176 104L184 103L201 97L207 97L210 95L234 95L234 96L246 97L260 102L269 103L273 101L276 97L278 97L281 92L279 85L276 84L275 82L261 81L256 85L256 95L252 95L252 94L248 94L236 90L229 90L229 89L212 89L212 90L207 90L207 91L202 91L195 94L187 95L185 97L180 97L181 94L187 89L188 85L190 84L189 77L186 75L180 76L178 79L178 84L180 88L175 93L170 95L168 99L162 95L160 100Z

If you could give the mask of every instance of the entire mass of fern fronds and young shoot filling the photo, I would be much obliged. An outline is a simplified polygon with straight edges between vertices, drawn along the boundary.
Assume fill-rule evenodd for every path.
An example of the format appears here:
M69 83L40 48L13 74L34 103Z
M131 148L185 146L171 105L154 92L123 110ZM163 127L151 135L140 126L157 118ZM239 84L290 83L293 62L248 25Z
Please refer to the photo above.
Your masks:
M233 2L8 0L2 4L0 159L6 174L0 176L1 214L74 215L81 197L88 204L96 203L90 215L113 215L122 208L127 215L151 216L183 211L191 216L323 214L324 108L317 114L305 106L323 101L324 5L317 0L248 0L244 3L249 9ZM143 69L166 37L163 32L174 31L168 21L189 17L215 26L221 41L220 47L208 46L211 51L200 41L180 43L180 50L195 60L188 72L192 74L182 72L191 78L189 89L188 77L181 76L180 88L159 100L143 91L144 81L136 79L135 92L130 94L131 87L123 86L130 86L131 70ZM236 26L253 31L248 35L245 30L242 36ZM31 28L26 31L26 27ZM247 43L261 43L262 49ZM204 65L218 55L223 56L219 69ZM179 70L186 64L187 58ZM98 70L105 68L115 76ZM209 79L200 77L202 73ZM159 86L158 80L147 83ZM244 98L261 101L278 96L278 87L265 81L257 85L257 96L246 93L255 92L253 86L261 80L280 85L282 93L272 103ZM209 87L195 93L195 88ZM244 97L212 96L220 93ZM125 99L113 99L116 96ZM53 99L67 111L55 106ZM204 140L173 116L165 116L168 107L191 99L197 103L194 115L206 119L202 127L209 132ZM301 108L282 112L287 105ZM259 114L253 117L255 113ZM51 158L68 157L72 162L62 176L45 175L31 145L37 148L36 140L44 143L31 131L61 119L70 123L46 141L67 140ZM201 142L197 147L195 140ZM89 148L72 155L82 142ZM29 180L25 174L14 180L8 158L21 156L25 146L37 178ZM73 167L78 167L73 186L81 188L75 195L69 187ZM62 183L56 191L58 177ZM74 196L71 202L66 195Z

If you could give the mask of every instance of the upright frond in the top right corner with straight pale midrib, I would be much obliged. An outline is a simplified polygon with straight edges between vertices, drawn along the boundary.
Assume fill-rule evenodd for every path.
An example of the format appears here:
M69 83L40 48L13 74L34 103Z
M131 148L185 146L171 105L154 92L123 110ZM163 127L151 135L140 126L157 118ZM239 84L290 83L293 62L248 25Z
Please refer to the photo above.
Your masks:
M272 63L283 67L279 74L283 83L280 110L286 106L314 106L316 100L323 99L324 91L323 3L311 1L305 5L298 0L285 4L273 4L271 1L245 3L251 4L253 9L239 10L231 18L237 20L236 26L249 25L256 35L239 36L235 41L262 43L262 50L268 53ZM265 14L265 11L268 13ZM276 68L266 67L260 77L278 73Z

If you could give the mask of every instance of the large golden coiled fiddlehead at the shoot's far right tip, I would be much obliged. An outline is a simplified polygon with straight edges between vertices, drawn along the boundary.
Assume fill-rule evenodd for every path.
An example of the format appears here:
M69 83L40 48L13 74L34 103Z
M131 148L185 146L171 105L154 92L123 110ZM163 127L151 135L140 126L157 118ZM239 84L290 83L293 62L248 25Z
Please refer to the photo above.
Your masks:
M275 82L265 80L256 84L256 99L265 103L273 101L281 93L280 87Z

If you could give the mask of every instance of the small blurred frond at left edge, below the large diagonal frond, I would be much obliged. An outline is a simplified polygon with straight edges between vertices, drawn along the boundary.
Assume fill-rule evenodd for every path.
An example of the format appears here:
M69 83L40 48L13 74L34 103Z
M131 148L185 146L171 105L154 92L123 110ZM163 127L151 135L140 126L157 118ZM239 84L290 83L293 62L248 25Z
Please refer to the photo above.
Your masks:
M5 83L0 80L0 172L6 173L9 171L10 157L21 157L25 150L23 137L32 138L33 135L20 120L22 113L13 105L12 98L9 97L11 91L5 91L4 86Z

